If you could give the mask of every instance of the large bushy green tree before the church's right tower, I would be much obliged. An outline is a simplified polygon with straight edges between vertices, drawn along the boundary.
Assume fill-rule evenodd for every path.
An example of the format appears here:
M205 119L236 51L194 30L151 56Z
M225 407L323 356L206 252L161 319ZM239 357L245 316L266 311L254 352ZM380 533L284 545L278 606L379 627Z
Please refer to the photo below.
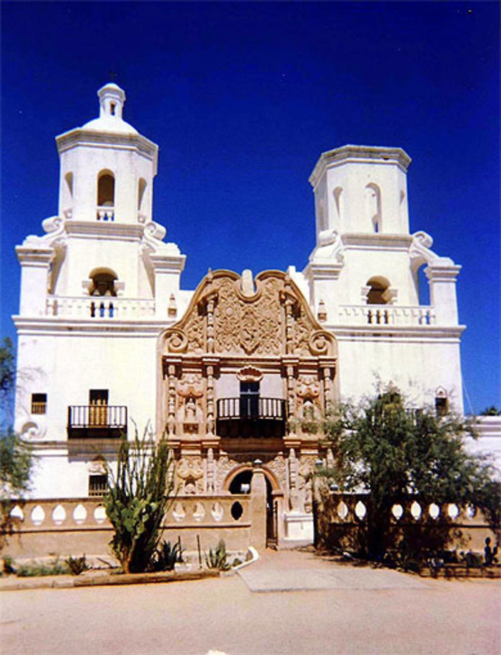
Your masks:
M396 546L391 509L409 494L437 504L474 504L495 529L499 485L492 466L465 451L463 435L474 433L461 419L430 409L409 411L390 386L362 405L339 407L324 431L336 462L325 474L343 491L367 493L363 551L369 558L380 559Z

